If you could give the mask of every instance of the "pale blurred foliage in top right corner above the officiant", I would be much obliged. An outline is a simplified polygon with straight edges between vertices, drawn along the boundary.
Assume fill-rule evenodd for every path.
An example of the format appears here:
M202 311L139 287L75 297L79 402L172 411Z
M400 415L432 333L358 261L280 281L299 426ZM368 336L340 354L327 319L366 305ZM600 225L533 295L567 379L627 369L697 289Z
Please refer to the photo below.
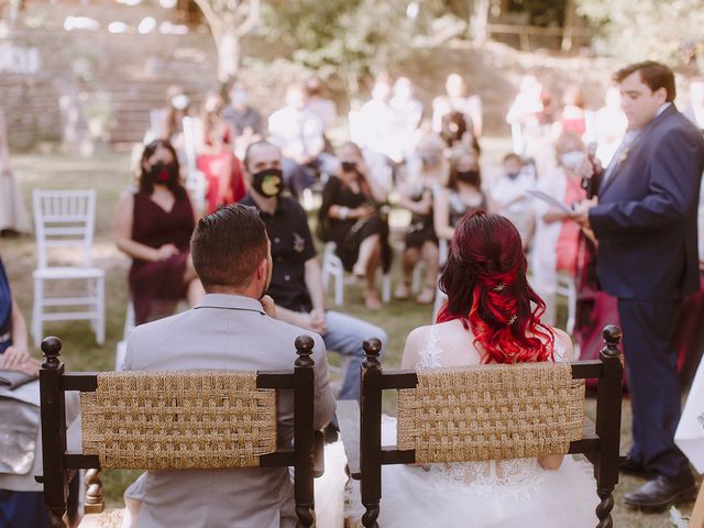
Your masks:
M578 0L578 12L602 29L597 52L673 67L704 62L702 0Z

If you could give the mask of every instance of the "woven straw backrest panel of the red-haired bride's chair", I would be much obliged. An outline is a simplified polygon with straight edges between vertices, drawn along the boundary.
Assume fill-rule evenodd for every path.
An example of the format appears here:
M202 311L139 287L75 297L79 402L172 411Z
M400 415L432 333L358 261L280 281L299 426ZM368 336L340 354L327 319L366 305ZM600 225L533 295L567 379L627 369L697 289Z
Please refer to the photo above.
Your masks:
M419 370L398 393L398 449L419 463L566 453L583 437L584 381L566 363Z

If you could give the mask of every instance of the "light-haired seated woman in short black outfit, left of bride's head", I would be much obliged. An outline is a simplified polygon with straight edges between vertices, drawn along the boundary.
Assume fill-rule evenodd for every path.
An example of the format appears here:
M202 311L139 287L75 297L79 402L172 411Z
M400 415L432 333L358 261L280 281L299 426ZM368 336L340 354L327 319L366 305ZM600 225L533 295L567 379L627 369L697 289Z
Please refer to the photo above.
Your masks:
M427 135L418 142L410 175L400 189L400 207L411 212L410 224L404 239L402 260L403 279L394 296L407 299L410 296L410 278L414 268L422 260L426 265L426 284L416 297L416 302L429 305L436 297L439 250L433 227L433 196L446 183L448 164L443 157L444 142L439 135Z

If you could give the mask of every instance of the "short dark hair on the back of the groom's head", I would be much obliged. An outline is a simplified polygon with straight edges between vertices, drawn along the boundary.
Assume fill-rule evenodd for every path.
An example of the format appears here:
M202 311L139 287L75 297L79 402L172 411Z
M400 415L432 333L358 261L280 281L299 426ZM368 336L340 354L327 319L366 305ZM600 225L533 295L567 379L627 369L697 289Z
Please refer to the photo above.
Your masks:
M190 238L190 255L204 288L246 288L268 254L267 241L254 207L233 204L202 217Z

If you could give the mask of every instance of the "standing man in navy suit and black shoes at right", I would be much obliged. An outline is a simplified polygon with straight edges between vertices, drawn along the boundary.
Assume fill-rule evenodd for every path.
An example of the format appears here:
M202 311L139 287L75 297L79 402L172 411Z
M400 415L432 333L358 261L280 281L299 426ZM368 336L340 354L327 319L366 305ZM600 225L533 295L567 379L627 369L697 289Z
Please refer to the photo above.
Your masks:
M598 242L601 287L618 298L634 437L622 470L651 479L625 502L660 508L696 491L673 442L680 418L673 334L683 297L700 287L704 142L674 107L674 76L667 66L634 64L615 79L629 130L601 174L598 197L582 202L574 218Z

